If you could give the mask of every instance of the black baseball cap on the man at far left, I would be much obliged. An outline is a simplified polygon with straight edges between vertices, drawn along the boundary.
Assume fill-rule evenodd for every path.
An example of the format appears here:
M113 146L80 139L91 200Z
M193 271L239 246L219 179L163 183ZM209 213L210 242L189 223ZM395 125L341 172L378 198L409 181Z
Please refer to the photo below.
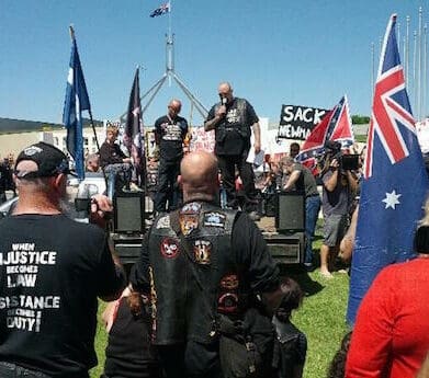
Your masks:
M21 161L30 160L37 164L37 170L18 170ZM58 148L39 141L24 148L18 156L14 173L19 179L50 177L60 173L70 173L67 157Z

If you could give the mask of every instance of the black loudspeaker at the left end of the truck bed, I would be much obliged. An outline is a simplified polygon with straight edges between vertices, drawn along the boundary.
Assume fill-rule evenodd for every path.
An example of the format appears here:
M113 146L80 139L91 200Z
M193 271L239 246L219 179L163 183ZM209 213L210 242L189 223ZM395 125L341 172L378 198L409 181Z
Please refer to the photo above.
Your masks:
M120 192L113 198L114 232L144 233L145 194L143 192Z

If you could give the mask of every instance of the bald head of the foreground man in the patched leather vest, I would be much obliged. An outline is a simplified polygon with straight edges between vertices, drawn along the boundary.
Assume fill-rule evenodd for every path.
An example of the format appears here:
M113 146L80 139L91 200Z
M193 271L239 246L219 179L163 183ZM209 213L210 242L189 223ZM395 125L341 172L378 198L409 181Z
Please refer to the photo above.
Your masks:
M217 159L213 153L195 151L187 154L180 164L183 199L213 201L218 191Z

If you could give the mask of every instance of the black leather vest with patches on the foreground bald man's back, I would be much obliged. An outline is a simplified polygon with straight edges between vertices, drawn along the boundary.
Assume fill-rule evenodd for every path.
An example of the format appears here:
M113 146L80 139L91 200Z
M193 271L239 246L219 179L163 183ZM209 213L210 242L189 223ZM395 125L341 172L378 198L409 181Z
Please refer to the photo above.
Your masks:
M154 344L211 343L217 312L239 311L241 286L232 251L236 215L193 202L155 219L149 236Z

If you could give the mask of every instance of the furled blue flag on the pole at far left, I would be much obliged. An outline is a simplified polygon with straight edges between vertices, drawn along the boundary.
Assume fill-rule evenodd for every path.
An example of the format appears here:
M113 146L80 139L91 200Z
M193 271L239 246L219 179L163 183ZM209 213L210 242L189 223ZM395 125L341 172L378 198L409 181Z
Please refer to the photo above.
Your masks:
M87 85L80 65L78 46L71 31L71 56L67 77L66 100L64 103L63 123L67 129L67 149L75 159L76 173L84 177L82 111L90 111Z

